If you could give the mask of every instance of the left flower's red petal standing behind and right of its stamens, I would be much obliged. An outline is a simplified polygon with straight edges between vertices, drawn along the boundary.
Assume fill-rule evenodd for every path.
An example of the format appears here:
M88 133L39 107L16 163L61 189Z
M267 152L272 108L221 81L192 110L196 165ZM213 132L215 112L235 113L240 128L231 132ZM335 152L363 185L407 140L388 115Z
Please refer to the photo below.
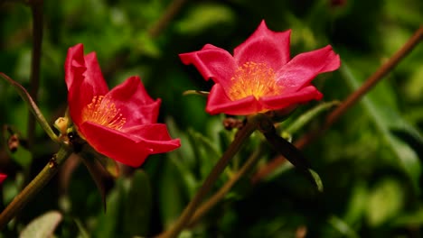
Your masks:
M159 114L160 99L153 100L146 92L139 77L127 78L106 96L126 118L125 127L138 124L155 124Z

